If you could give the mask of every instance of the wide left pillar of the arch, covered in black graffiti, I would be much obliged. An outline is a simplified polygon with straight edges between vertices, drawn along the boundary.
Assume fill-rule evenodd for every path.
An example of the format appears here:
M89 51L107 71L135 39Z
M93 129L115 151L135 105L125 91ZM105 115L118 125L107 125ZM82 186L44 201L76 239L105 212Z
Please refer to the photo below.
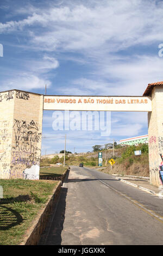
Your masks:
M43 95L12 90L0 97L0 178L39 179Z

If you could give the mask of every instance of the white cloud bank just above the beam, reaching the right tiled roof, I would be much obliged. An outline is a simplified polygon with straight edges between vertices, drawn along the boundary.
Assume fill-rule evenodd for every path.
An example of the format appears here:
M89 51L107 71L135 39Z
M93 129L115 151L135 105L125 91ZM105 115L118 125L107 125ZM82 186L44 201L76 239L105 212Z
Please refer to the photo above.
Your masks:
M92 79L78 78L68 87L59 88L73 95L142 96L148 83L162 81L163 59L158 56L135 56L96 63Z

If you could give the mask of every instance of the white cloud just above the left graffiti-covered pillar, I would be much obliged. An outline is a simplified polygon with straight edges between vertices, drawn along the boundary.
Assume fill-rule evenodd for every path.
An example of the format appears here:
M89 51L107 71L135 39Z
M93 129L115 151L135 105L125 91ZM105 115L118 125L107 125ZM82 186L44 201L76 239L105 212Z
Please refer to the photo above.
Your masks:
M48 79L47 72L57 69L58 66L58 60L47 55L42 59L23 59L19 70L12 66L8 68L7 75L1 71L1 88L30 90L45 88L45 85L48 88L51 86L51 81Z

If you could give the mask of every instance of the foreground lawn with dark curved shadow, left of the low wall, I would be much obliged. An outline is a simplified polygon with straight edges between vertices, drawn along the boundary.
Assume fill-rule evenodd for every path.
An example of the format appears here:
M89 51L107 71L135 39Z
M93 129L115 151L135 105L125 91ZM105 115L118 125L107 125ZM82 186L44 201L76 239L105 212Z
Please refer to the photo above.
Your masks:
M0 185L0 245L18 245L58 181L0 179Z

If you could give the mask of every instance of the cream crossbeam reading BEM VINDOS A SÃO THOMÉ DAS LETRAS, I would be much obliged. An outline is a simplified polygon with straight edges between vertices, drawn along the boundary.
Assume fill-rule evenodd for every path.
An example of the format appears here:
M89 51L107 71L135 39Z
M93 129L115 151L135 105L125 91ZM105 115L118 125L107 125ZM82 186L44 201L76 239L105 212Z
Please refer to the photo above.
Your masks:
M146 96L44 96L43 110L152 111Z

